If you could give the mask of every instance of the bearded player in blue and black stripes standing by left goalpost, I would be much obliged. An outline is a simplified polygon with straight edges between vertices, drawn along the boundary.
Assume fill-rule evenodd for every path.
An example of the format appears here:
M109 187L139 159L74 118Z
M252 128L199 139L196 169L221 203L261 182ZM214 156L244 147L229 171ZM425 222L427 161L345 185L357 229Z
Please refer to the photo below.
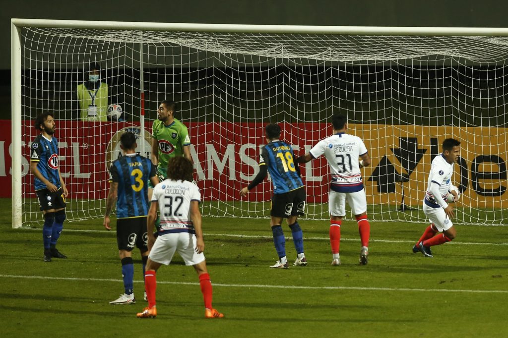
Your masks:
M67 258L56 249L56 242L66 219L65 198L69 192L58 167L58 142L53 137L53 114L47 112L37 116L35 128L41 133L30 146L30 172L35 176L34 186L44 214L44 261L50 262L51 257Z

